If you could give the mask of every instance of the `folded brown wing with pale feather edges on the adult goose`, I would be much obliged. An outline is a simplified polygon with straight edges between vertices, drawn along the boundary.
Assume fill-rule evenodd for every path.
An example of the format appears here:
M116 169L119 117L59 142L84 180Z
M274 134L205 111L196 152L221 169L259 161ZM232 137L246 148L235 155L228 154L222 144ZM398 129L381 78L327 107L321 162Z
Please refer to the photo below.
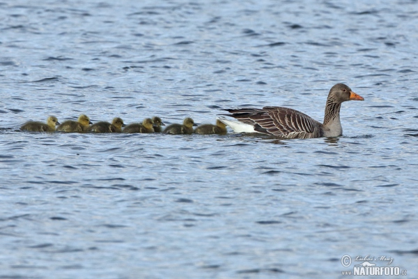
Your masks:
M294 138L320 137L322 123L288 107L263 107L227 110L229 116L254 126L258 133Z

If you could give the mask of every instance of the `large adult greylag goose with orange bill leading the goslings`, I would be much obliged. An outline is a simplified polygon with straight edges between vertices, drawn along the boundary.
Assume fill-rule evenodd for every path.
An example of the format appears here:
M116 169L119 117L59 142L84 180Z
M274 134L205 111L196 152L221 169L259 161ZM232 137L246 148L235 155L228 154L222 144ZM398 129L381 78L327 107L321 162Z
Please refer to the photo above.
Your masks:
M310 139L313 137L338 137L343 134L340 121L341 103L346 100L364 100L346 84L335 84L328 94L324 122L288 107L263 107L226 110L238 121L220 118L235 132L262 133L285 139Z

